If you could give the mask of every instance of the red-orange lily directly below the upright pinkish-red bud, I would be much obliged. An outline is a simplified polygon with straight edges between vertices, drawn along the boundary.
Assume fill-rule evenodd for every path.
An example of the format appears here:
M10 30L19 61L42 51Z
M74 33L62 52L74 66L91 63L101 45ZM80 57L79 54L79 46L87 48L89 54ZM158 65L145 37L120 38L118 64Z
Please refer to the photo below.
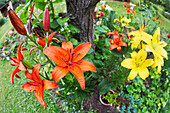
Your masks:
M44 48L44 47L46 46L45 38L44 38L44 39L41 39L40 36L37 34L37 32L36 32L35 29L34 29L34 31L35 31L37 37L39 38L39 40L37 40L36 42L37 42L39 45L41 45L42 48ZM54 31L53 33L51 33L51 34L48 36L48 38L47 38L47 46L50 45L50 42L51 42L52 40L58 41L57 38L55 38L55 39L53 38L53 36L54 36L56 33L57 33L57 32ZM31 50L30 50L30 52L29 52L29 55L31 54L31 52L32 52L35 48L36 48L36 47L31 48Z

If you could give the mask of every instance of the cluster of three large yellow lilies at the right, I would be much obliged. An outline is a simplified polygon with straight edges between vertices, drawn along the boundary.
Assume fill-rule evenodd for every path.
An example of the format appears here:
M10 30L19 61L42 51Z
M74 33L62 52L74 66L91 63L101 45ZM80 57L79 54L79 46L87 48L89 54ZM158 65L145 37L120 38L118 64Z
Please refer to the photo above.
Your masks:
M160 28L158 27L153 36L151 36L144 32L143 26L139 26L139 30L130 32L129 37L131 35L134 36L130 41L131 48L132 50L138 48L139 51L138 53L136 51L132 52L132 58L127 58L121 63L123 67L132 69L128 78L132 80L139 74L145 80L149 76L147 69L149 66L152 68L158 67L156 73L159 73L161 66L164 66L163 58L168 59L167 52L163 48L167 43L160 41ZM153 59L147 59L147 52L153 54Z

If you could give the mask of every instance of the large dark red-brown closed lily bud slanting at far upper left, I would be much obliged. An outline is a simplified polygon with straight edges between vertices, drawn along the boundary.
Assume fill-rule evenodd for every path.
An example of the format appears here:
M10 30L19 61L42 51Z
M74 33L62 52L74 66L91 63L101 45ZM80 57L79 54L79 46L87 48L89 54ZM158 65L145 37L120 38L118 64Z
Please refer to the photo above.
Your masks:
M22 23L21 19L15 14L15 12L12 9L8 10L8 15L16 31L21 35L27 35L27 31L25 29L24 24Z

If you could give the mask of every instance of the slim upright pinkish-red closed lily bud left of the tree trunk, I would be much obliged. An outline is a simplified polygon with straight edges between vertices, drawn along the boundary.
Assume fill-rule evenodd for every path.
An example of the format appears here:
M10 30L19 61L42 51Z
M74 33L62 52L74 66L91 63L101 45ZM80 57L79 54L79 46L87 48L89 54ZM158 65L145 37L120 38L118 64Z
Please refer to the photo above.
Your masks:
M49 15L49 11L48 11L47 7L45 8L45 12L44 12L43 25L44 25L44 29L46 31L49 31L49 29L50 29L50 15Z

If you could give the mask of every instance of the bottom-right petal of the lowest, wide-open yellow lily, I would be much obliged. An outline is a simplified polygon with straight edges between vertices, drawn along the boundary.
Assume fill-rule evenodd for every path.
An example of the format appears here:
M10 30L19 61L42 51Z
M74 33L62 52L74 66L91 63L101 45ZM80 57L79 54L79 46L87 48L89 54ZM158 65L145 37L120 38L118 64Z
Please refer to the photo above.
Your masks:
M146 67L141 67L139 69L139 76L145 80L149 76L149 71Z

